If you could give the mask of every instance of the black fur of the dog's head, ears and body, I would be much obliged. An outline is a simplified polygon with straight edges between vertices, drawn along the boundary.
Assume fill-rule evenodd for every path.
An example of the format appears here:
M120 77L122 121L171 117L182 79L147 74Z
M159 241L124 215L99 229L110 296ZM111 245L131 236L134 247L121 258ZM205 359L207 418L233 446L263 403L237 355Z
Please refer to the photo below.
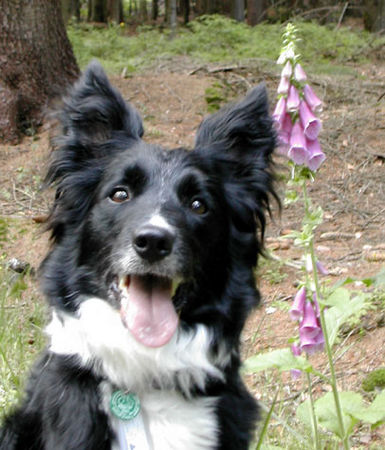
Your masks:
M221 344L231 352L225 380L212 378L192 395L219 397L217 448L246 450L258 409L239 376L239 338L259 301L253 270L274 195L275 135L265 88L205 119L193 151L166 151L142 141L138 113L93 63L65 100L61 123L47 177L57 190L52 248L41 268L51 307L76 313L87 296L117 307L117 255L143 217L160 211L177 230L172 270L183 280L173 299L180 326L205 324L214 336L213 353ZM117 206L108 197L122 185L132 200ZM194 199L206 210L194 213ZM161 264L156 270L163 270ZM77 357L47 350L22 405L0 431L0 449L111 448L100 381Z

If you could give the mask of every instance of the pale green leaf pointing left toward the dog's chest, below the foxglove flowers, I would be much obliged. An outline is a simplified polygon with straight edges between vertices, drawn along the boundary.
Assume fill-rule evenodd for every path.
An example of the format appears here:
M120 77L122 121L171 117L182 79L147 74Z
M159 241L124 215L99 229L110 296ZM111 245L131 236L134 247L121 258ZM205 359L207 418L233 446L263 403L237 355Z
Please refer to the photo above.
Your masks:
M245 373L261 372L268 369L278 369L280 371L299 369L311 372L313 368L302 356L294 356L289 348L255 355L246 359L243 363L243 371Z

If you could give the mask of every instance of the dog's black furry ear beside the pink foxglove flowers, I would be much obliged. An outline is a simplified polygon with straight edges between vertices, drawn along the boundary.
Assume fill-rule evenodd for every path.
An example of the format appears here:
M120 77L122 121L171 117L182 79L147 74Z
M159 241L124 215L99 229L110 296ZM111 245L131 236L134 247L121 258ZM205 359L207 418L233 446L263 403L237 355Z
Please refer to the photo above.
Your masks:
M272 153L276 144L264 85L247 96L207 117L200 125L196 149L213 164L223 181L235 227L243 232L261 231L273 188Z

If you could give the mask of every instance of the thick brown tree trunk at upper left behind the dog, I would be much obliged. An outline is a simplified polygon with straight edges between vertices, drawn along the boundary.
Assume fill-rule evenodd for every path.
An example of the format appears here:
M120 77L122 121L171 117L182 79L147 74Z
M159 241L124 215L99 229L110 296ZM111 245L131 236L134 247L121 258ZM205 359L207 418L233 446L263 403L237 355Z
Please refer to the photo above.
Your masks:
M60 0L0 0L0 140L41 124L48 100L77 78Z

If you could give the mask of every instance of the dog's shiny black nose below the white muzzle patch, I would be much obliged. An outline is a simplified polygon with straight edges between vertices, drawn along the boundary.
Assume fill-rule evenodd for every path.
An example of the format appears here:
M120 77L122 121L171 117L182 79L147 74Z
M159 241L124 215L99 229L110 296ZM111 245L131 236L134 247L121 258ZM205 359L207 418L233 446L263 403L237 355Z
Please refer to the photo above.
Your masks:
M146 225L135 233L134 248L136 253L149 262L159 261L172 251L174 234L154 225Z

